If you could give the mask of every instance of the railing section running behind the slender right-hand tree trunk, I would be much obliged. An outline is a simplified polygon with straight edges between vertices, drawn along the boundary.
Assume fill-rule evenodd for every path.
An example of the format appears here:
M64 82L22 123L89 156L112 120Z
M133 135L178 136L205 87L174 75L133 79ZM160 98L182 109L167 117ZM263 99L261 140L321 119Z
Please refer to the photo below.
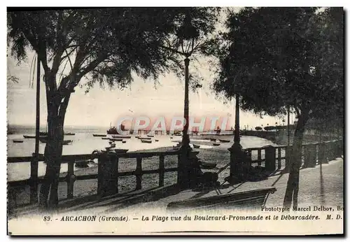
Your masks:
M343 154L343 145L342 140L302 145L302 167L316 166L316 164L327 163L340 157ZM251 163L261 165L262 162L265 162L265 167L274 171L288 168L291 147L291 145L277 145L244 150L248 152Z

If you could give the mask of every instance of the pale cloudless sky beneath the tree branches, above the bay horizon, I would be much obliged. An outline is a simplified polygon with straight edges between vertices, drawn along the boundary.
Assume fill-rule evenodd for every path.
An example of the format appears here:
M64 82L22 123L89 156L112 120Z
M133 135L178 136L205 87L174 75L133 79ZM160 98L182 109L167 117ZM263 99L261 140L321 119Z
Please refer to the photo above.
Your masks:
M18 83L7 83L8 124L34 125L36 104L36 67L31 66L35 55L29 50L26 62L18 64L15 58L8 52L7 72L19 79ZM35 64L35 62L34 62ZM206 59L200 59L195 65L199 68L191 68L197 75L203 78L202 88L197 92L190 91L190 117L195 118L228 118L227 127L235 126L235 101L219 100L211 90L215 78L213 70L209 69ZM35 70L35 71L34 71ZM34 71L34 77L33 77ZM41 69L41 76L43 69ZM34 87L29 87L29 80L34 80ZM42 80L42 78L41 78ZM82 80L80 83L83 83ZM142 80L134 78L134 83L125 90L102 89L95 85L90 92L85 93L86 87L76 87L76 92L71 95L67 108L66 126L98 126L109 127L110 123L116 125L117 120L125 115L133 118L147 116L151 120L165 117L166 121L174 116L183 115L184 80L179 80L173 73L160 76L158 84L155 80ZM45 127L47 109L45 104L45 88L41 81L41 126ZM286 119L286 117L285 117ZM291 118L291 122L294 118ZM241 129L248 129L263 125L264 127L280 124L277 117L264 116L260 118L250 112L241 111ZM220 125L218 123L218 125Z

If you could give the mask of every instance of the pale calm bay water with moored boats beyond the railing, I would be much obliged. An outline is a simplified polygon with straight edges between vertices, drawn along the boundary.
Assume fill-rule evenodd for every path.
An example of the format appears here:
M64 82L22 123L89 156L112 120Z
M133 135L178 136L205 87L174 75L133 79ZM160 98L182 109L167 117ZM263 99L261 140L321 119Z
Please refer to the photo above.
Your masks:
M71 145L64 145L63 155L78 155L78 154L91 154L93 150L104 150L109 147L109 140L103 140L101 137L94 137L92 134L106 134L106 129L65 129L65 132L73 132L74 136L65 136L65 140L72 140ZM23 138L23 135L34 135L35 129L31 127L17 128L15 134L8 135L8 157L23 157L31 156L34 152L35 139ZM129 151L148 150L160 147L172 147L176 145L176 142L181 141L181 136L159 135L152 138L152 143L141 143L138 138L132 136L132 138L125 139L126 143L116 142L116 148L123 148ZM220 146L213 147L213 141L208 141L202 136L191 137L193 143L201 145L201 149L219 149L223 152L228 152L228 148L232 145L232 136L221 136L222 139L228 139L230 143L221 143ZM21 139L23 143L13 143L13 140ZM158 142L155 142L158 139ZM242 136L241 145L243 148L262 147L264 145L274 145L271 141L267 141L264 138L258 138L254 136ZM39 144L39 152L43 153L45 150L45 143ZM78 168L74 168L78 169ZM61 172L67 171L67 164L62 164ZM14 163L8 164L8 180L22 180L29 178L30 164ZM39 162L38 176L45 174L45 164Z

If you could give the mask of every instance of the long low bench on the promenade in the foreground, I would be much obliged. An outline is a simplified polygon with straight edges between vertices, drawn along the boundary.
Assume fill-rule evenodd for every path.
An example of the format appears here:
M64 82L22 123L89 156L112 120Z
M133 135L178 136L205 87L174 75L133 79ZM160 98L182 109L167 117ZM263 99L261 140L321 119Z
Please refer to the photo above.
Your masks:
M265 206L267 195L276 192L275 187L235 192L199 199L172 201L167 205L167 210L197 210L202 208L261 208Z

